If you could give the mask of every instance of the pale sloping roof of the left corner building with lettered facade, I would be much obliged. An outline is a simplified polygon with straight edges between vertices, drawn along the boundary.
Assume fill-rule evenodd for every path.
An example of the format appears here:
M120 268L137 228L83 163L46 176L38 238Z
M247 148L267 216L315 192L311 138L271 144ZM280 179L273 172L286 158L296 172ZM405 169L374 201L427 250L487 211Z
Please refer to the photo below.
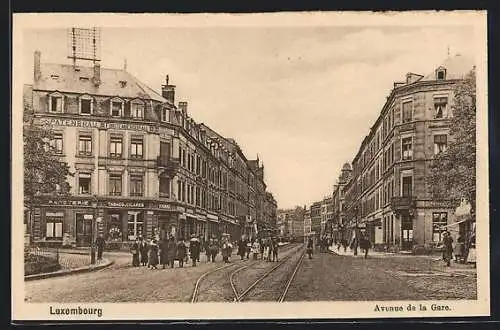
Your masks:
M34 82L34 89L168 102L125 70L101 68L101 83L96 86L92 80L93 67L76 66L75 69L73 65L42 63L40 69L41 76Z

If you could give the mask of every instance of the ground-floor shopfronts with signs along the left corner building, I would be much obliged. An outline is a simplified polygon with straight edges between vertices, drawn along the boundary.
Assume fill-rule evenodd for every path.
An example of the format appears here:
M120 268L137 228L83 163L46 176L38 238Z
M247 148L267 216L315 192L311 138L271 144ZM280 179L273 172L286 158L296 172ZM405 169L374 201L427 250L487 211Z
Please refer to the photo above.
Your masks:
M32 216L30 216L32 213ZM176 240L196 235L203 240L229 233L239 238L240 226L232 219L154 200L58 199L27 212L32 242L46 245L89 246L98 236L120 245L138 238Z

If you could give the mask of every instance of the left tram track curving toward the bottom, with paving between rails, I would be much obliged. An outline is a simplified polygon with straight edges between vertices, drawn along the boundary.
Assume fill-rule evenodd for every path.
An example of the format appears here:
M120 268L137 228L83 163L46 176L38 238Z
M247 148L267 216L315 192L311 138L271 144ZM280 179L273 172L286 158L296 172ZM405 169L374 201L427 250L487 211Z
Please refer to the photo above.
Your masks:
M273 266L272 269L275 270L281 266L301 247L302 245L299 245L298 247L297 245L287 246L286 250L281 251L281 254L285 253L286 255L277 265ZM242 263L244 263L243 266ZM240 295L237 293L234 281L235 276L245 269L252 269L255 265L262 265L264 266L263 269L266 269L269 265L272 265L272 263L262 259L235 260L230 264L225 264L224 266L217 267L203 273L195 283L190 301L192 303L201 301L240 301ZM221 272L223 274L221 274ZM270 273L271 272L269 271L266 272L267 275ZM260 281L263 279L264 277L260 279ZM248 292L250 291L251 290Z

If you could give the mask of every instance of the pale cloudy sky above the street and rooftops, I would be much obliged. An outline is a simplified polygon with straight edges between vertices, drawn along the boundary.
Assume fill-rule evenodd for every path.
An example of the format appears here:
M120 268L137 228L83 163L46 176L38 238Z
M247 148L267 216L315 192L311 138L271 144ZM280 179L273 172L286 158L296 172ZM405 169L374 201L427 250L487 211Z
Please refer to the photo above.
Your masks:
M102 66L122 68L160 92L165 75L176 102L248 159L257 155L279 208L331 195L394 81L428 74L448 54L473 56L466 26L305 26L103 28ZM33 52L70 63L67 31L23 36L24 82Z

